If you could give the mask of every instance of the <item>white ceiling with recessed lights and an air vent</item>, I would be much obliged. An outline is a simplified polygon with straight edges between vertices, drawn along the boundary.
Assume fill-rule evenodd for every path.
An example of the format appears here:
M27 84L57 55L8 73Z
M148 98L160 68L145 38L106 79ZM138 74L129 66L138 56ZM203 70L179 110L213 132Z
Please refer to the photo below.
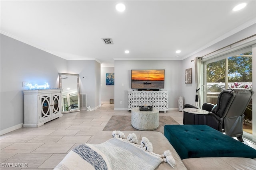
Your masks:
M115 10L119 2L126 6L123 13ZM233 12L242 2L247 6ZM255 0L1 0L0 5L4 35L67 60L95 59L103 67L121 59L186 59L256 23Z

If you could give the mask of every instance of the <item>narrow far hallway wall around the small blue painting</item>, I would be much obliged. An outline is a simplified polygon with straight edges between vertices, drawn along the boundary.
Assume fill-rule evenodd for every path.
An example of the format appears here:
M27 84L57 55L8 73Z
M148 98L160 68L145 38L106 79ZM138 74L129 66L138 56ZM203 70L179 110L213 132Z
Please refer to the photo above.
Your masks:
M115 85L106 85L106 73L114 73L114 67L102 67L100 72L100 101L109 102L110 99L114 99L114 86Z

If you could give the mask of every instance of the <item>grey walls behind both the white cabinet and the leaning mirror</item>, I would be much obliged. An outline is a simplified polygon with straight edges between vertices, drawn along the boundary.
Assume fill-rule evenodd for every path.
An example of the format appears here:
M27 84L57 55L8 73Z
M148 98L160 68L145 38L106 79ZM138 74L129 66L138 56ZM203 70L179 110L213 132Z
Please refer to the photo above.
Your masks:
M67 61L1 34L0 133L22 127L24 95L22 82L59 88L58 73L80 74L80 93L86 93L87 104L100 106L100 63ZM86 76L86 79L82 79Z

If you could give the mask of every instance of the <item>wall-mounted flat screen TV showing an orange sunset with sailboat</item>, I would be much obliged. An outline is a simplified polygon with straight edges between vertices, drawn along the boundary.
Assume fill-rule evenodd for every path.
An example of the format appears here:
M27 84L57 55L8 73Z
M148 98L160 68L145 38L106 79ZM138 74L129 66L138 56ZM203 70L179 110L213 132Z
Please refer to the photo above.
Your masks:
M164 70L132 70L132 88L164 88Z

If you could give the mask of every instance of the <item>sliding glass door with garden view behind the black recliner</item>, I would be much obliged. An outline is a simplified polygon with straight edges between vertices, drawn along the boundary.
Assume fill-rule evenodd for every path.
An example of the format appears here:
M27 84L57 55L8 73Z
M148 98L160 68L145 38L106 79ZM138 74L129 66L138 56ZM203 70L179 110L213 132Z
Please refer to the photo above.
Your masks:
M205 100L217 104L218 95L227 88L252 90L252 50L241 50L204 62ZM255 99L254 99L255 100ZM244 112L244 135L252 138L252 100ZM255 125L254 125L255 126Z

